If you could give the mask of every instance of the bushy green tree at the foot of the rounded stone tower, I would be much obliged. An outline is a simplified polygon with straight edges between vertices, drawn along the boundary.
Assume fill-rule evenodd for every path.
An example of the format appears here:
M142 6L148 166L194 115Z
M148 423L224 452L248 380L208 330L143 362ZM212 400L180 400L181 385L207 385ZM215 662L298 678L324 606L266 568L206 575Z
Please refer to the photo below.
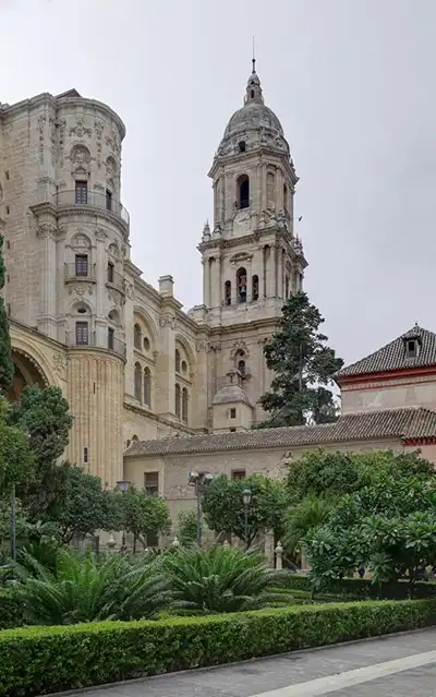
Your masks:
M95 534L96 530L121 530L121 495L105 491L98 477L76 467L66 470L62 506L53 516L63 542L74 536Z

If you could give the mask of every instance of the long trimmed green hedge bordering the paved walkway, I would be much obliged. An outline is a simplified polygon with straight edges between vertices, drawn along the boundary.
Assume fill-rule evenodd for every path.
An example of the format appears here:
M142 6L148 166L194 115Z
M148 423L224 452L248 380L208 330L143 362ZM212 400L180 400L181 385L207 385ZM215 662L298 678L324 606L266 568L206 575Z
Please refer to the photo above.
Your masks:
M436 624L436 601L337 603L0 633L0 696L40 695Z

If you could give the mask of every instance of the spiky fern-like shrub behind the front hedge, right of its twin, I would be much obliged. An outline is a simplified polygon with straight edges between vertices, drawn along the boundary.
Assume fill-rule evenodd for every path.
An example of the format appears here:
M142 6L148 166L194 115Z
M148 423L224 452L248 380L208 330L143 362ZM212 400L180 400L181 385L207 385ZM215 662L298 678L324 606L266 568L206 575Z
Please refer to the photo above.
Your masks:
M162 563L177 605L193 612L239 612L283 602L268 592L276 574L264 556L215 545L179 549Z

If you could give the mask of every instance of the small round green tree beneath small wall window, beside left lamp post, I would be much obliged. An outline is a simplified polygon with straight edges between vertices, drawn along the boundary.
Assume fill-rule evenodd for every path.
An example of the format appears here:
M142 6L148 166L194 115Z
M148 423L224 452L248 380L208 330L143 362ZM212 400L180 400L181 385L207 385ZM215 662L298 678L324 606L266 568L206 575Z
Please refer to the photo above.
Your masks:
M124 529L133 534L133 553L140 540L146 546L147 534L167 533L170 527L168 504L158 496L146 496L131 486L122 496Z

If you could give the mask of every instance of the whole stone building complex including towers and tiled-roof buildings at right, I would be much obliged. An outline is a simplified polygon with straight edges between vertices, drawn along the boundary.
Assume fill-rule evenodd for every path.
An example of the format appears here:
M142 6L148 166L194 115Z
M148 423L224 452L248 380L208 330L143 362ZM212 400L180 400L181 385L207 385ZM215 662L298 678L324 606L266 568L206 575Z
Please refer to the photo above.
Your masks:
M112 488L192 508L190 470L280 478L310 448L421 448L436 461L436 335L417 325L337 375L341 417L252 430L270 385L264 345L302 288L298 177L253 70L215 154L214 220L198 243L203 301L142 278L121 203L125 128L71 89L0 104L0 233L15 376L57 385L73 416L65 457Z

